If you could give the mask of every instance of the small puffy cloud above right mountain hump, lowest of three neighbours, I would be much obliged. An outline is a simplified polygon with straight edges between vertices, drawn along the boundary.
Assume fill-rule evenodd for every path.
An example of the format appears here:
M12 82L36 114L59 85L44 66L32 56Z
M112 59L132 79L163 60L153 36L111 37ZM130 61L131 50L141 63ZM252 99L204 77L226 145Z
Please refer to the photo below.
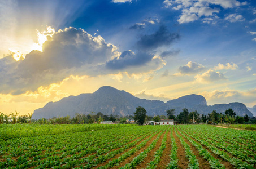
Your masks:
M214 81L226 79L223 73L215 72L212 69L209 69L207 72L203 74L197 74L195 78L196 78L196 81L199 83L214 82Z

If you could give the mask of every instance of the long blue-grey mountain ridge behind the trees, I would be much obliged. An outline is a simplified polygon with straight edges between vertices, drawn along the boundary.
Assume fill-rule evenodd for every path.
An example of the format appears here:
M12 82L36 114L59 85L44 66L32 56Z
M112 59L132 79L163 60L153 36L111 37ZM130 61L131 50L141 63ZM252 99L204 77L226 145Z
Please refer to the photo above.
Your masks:
M253 116L242 103L207 106L205 97L201 95L187 95L164 103L159 100L139 99L128 92L103 86L92 94L69 96L55 103L49 102L44 108L34 110L32 119L49 119L66 115L70 115L72 118L76 113L89 114L90 112L101 112L109 115L133 115L138 106L144 107L147 110L147 115L151 116L166 115L168 109L175 109L177 115L183 108L188 109L189 112L197 110L200 114L208 114L212 110L224 113L225 110L232 108L237 115L244 116L248 114Z

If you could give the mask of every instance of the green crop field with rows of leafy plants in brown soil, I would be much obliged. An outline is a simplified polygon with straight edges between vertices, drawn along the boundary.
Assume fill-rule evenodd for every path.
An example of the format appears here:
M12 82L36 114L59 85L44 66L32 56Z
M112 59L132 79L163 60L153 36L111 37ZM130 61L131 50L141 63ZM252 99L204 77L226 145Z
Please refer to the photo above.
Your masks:
M0 128L0 168L256 168L255 131L125 124Z

